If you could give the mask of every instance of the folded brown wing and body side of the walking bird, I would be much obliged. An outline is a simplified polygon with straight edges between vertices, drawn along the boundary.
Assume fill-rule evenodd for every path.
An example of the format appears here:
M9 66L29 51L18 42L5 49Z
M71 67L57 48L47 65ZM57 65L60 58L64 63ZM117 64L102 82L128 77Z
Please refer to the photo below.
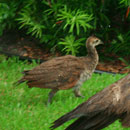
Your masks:
M81 72L84 70L84 62L74 56L54 58L30 71L25 71L22 80L29 86L43 88L67 89L73 87Z

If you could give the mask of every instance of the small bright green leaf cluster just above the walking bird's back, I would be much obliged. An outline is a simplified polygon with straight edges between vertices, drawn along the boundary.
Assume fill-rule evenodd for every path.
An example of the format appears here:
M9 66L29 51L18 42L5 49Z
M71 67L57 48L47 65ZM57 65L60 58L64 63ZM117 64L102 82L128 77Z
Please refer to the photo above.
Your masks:
M66 36L65 39L62 39L61 42L58 44L64 45L64 48L62 51L65 51L66 54L71 54L76 56L76 54L79 53L79 48L84 45L84 43L81 43L84 41L84 38L80 38L75 41L75 37L73 35Z

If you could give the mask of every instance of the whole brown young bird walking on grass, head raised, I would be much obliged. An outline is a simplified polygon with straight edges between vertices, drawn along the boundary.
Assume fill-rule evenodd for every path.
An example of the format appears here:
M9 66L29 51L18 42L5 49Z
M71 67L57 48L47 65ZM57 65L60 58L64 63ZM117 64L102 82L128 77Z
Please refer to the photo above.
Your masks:
M88 49L87 57L75 57L71 55L51 59L35 67L24 71L24 76L17 82L25 82L31 87L52 89L48 102L59 90L74 88L77 97L82 96L80 86L89 79L98 64L98 53L95 46L102 44L97 37L91 36L86 41Z

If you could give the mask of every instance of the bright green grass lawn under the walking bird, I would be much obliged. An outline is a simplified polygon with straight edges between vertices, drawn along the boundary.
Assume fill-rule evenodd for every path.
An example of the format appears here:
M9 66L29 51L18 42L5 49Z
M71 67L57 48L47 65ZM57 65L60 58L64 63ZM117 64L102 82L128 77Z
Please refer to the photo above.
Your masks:
M92 79L81 88L84 99L75 98L72 90L60 91L53 103L46 105L47 89L29 89L25 83L14 86L21 72L37 64L22 62L16 58L0 61L0 130L49 130L51 123L86 99L110 85L123 75L93 74ZM63 130L72 121L57 130ZM126 130L116 121L104 130Z

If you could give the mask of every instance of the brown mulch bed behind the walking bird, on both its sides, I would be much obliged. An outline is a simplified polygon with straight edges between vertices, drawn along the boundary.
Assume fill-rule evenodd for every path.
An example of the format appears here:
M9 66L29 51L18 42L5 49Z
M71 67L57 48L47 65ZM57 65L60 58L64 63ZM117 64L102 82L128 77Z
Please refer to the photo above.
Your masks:
M60 56L61 54L56 52L50 53L50 50L45 48L36 39L28 36L20 36L14 33L7 33L0 37L0 53L8 56L20 56L22 58L29 59L41 59L49 60L53 57ZM126 69L127 65L115 58L116 60L99 62L97 70L114 72L114 73L127 73L130 69Z

